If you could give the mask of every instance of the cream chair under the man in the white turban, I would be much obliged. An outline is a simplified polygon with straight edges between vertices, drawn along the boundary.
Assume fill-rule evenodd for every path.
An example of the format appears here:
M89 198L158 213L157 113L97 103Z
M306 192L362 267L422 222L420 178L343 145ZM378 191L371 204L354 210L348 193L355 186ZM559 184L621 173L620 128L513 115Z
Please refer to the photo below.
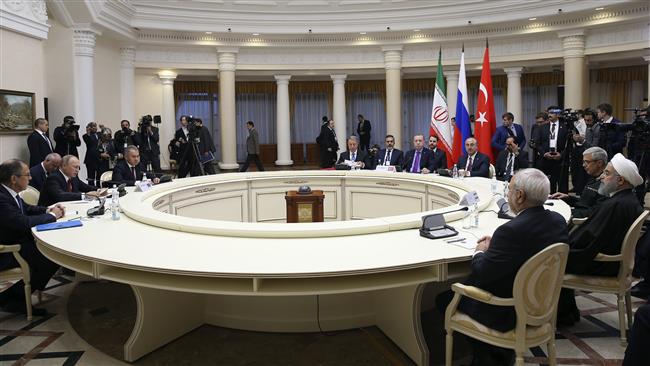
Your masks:
M591 291L616 294L618 297L618 325L621 332L621 345L627 345L625 313L627 312L627 329L632 327L632 299L630 298L630 288L632 287L632 268L634 267L634 250L636 243L641 236L641 227L646 216L650 211L643 211L634 221L632 226L627 230L623 244L621 245L621 254L606 255L598 253L597 262L621 262L616 277L587 276L567 274L564 276L564 287ZM623 310L625 306L626 310Z

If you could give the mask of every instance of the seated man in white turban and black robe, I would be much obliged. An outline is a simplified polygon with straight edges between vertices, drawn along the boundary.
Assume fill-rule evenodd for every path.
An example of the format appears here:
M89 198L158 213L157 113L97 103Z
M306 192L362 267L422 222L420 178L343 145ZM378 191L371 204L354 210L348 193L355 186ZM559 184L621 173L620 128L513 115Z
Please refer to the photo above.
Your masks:
M633 188L643 182L639 170L622 154L614 155L601 175L598 193L608 197L587 221L569 234L566 273L603 277L618 275L620 262L596 262L598 253L617 255L627 230L643 209ZM570 325L580 319L572 290L562 289L558 322Z

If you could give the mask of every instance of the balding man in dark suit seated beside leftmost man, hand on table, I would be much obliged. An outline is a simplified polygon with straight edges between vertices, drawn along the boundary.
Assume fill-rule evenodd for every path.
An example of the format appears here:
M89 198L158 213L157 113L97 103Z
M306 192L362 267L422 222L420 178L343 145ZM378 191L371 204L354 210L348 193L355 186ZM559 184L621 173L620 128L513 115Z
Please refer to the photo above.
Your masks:
M88 197L99 197L97 187L88 185L77 176L81 169L79 159L66 155L61 159L61 169L55 170L45 180L38 198L39 206L49 206L57 202L78 201ZM103 192L102 194L106 194Z

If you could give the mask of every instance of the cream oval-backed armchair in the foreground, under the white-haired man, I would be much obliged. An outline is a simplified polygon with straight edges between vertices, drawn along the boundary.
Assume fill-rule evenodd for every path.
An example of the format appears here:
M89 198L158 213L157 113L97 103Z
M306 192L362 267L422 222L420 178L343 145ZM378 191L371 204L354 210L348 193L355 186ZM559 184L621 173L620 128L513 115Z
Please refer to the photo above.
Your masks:
M513 296L509 299L494 296L478 287L453 284L454 298L445 312L445 365L451 366L454 331L488 344L514 349L517 366L524 364L524 352L528 348L546 343L549 363L555 365L555 319L568 253L568 245L557 243L528 259L517 272L512 286ZM517 314L515 329L500 332L472 319L458 310L461 296L496 306L514 306Z

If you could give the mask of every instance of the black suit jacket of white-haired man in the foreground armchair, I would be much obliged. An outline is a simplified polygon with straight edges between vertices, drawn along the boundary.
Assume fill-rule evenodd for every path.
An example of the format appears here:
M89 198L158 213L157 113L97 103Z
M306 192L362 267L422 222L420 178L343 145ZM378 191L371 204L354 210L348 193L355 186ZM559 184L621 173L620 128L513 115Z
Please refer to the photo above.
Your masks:
M560 214L542 206L530 207L499 226L492 235L489 249L474 255L467 284L495 296L512 297L512 285L522 264L549 245L567 241L566 221ZM516 324L514 307L489 305L463 297L460 310L502 332L514 329Z

